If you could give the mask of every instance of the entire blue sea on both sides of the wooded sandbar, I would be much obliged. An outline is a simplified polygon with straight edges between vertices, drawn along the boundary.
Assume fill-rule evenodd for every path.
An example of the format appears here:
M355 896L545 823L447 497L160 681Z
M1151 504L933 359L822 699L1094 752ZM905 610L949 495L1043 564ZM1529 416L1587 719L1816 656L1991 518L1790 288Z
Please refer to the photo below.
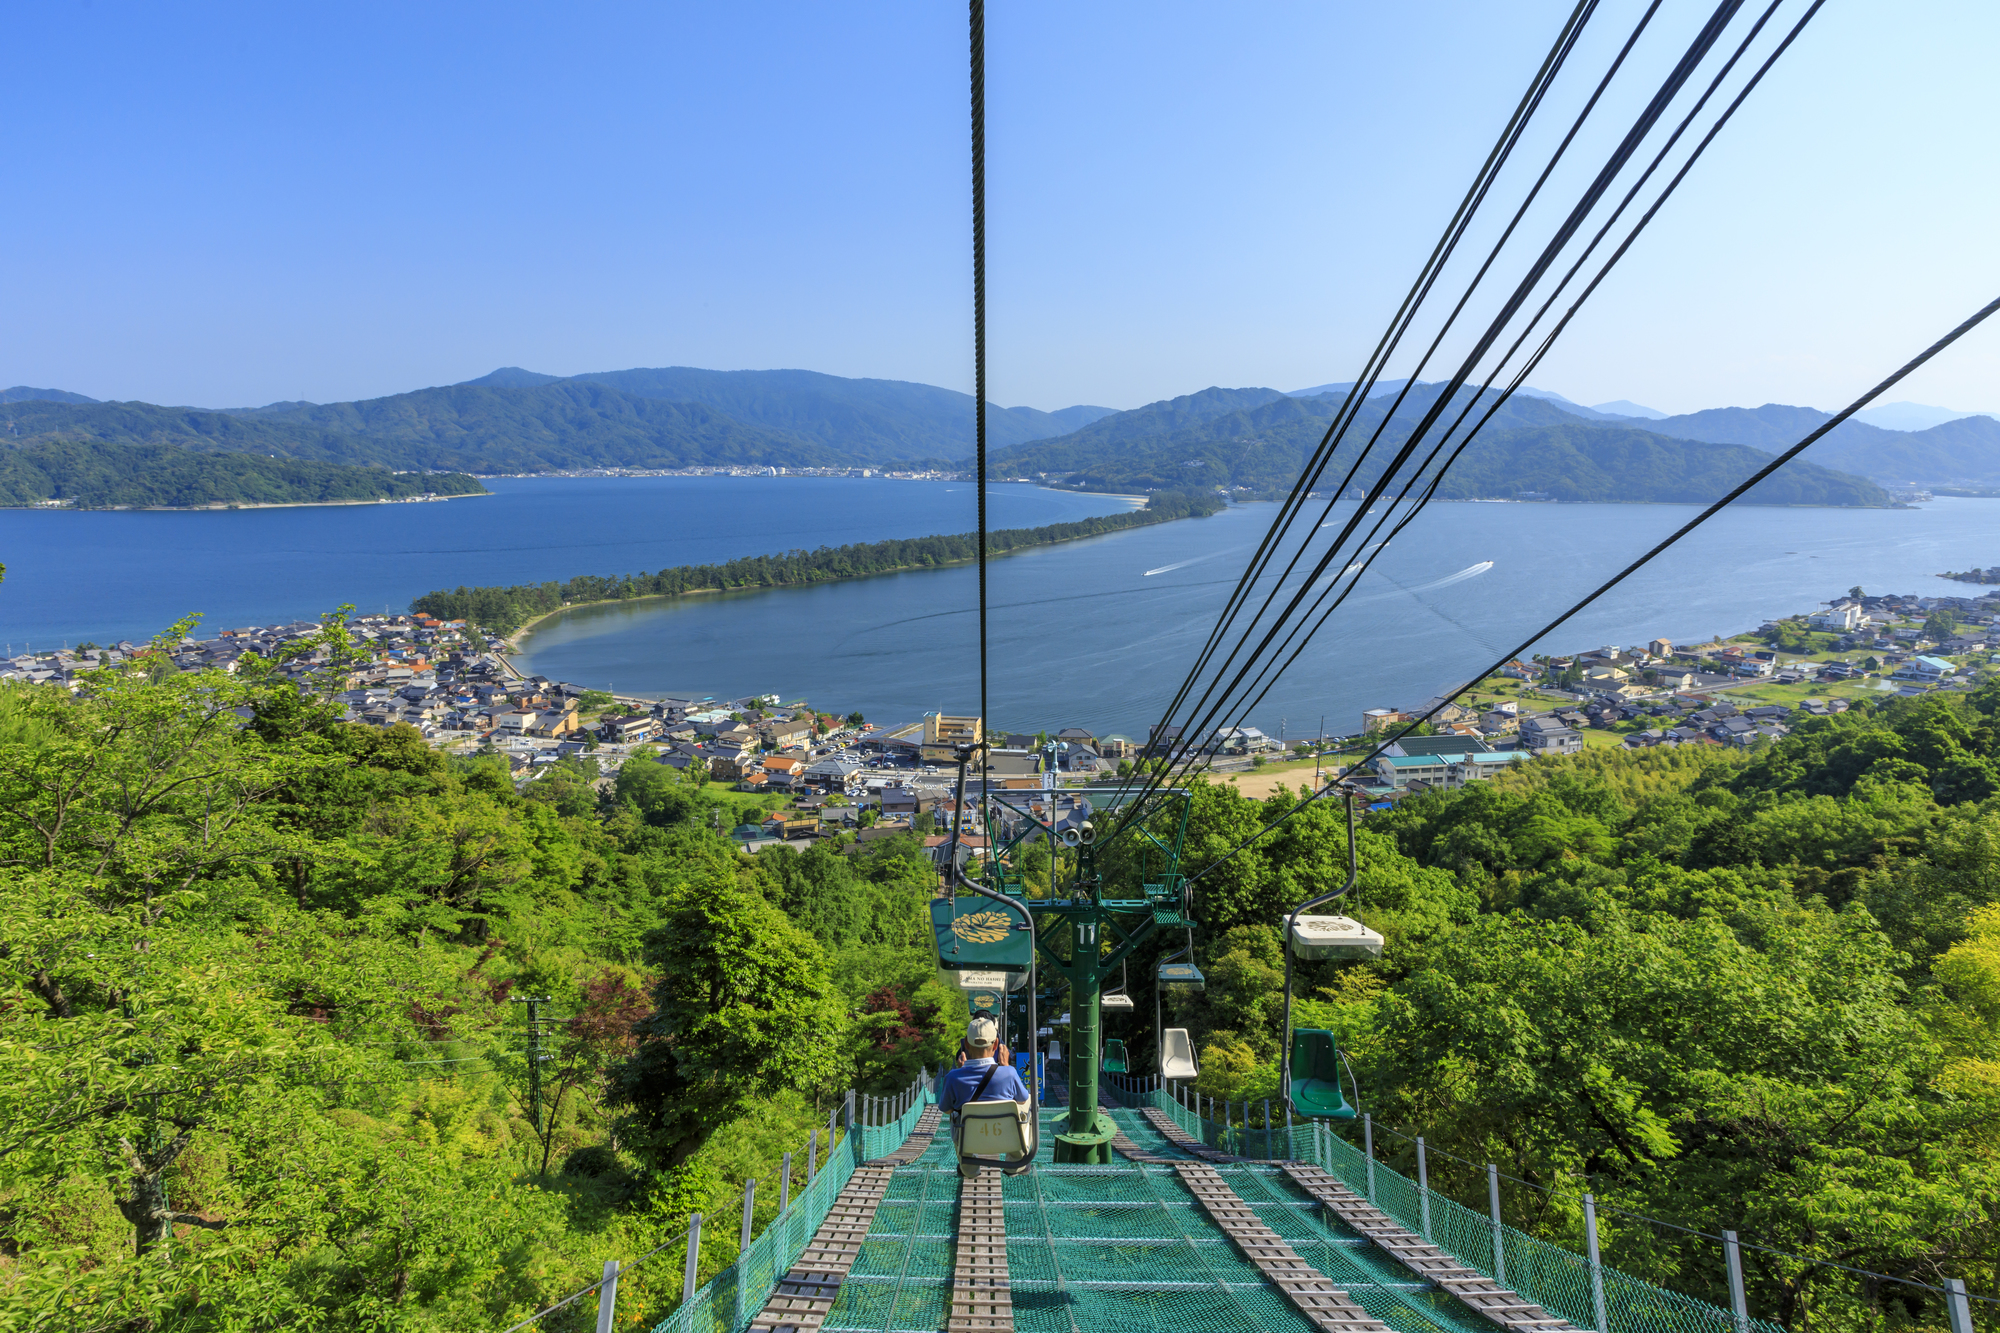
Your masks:
M460 582L652 570L794 546L964 532L970 486L882 478L512 478L442 504L234 512L0 510L0 646L144 636L404 608ZM990 522L1124 508L994 486ZM1694 510L1672 504L1434 504L1248 721L1352 731L1360 709L1464 681ZM1016 731L1142 737L1180 683L1268 504L996 560L990 713ZM1906 510L1726 512L1554 634L1548 648L1736 632L1862 584L1964 592L1946 568L2000 560L2000 500ZM1488 568L1482 564L1492 562ZM978 707L970 568L816 588L590 606L544 622L528 671L620 691L778 693L874 721Z

